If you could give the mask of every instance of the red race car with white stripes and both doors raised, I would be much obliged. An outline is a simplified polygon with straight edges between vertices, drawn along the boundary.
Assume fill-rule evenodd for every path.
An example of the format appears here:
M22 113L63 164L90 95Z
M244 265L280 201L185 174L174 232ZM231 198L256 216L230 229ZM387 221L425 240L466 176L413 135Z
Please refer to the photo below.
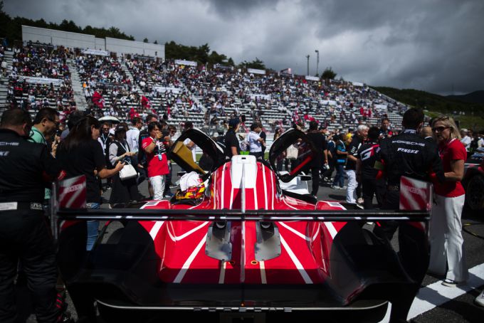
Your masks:
M205 169L184 146L187 138L209 157ZM293 144L293 169L275 171ZM93 322L379 322L391 302L391 317L405 319L428 266L431 191L402 181L405 210L365 211L281 189L314 156L297 129L275 140L269 162L228 159L204 132L189 129L169 157L199 175L199 189L179 198L87 210L83 178L60 183L53 234L78 316ZM86 252L85 221L92 220L106 222ZM398 251L374 233L385 221L399 223Z

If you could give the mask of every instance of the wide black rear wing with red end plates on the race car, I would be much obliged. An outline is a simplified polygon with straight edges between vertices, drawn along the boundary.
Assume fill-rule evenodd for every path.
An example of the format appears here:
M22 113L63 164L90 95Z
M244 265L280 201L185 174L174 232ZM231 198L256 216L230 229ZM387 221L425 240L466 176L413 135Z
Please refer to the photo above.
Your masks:
M432 185L402 176L400 210L174 210L87 209L85 176L59 181L53 186L51 225L58 233L58 220L124 221L428 221Z

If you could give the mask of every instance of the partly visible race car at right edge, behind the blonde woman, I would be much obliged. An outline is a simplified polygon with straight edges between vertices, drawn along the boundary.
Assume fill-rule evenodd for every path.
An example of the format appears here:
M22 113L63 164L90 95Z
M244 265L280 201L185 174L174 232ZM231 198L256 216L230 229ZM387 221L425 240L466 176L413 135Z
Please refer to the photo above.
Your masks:
M464 171L465 204L473 211L481 211L484 209L484 147L468 154Z

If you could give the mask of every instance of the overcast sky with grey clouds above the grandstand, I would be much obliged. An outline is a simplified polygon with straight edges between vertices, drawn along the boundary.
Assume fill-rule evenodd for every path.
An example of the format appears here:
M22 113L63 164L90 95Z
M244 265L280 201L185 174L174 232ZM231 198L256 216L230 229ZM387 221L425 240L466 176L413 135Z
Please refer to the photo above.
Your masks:
M4 0L10 16L209 43L235 63L438 94L484 90L483 0Z

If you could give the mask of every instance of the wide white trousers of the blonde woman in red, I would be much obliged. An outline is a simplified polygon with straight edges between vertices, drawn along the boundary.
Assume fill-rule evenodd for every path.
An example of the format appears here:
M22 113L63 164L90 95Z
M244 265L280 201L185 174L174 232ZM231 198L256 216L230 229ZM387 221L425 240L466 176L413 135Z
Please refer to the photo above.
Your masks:
M436 195L430 220L430 263L428 271L456 282L468 279L463 248L461 215L465 195L445 197Z

